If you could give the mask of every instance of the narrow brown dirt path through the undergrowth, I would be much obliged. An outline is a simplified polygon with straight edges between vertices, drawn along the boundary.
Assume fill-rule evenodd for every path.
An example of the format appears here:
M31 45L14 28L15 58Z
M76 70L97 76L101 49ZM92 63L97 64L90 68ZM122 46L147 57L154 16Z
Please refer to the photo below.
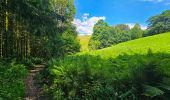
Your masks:
M25 86L26 86L26 93L24 100L39 100L39 95L41 89L38 87L36 83L36 75L44 69L44 65L36 65L34 69L30 70L26 79L25 79Z

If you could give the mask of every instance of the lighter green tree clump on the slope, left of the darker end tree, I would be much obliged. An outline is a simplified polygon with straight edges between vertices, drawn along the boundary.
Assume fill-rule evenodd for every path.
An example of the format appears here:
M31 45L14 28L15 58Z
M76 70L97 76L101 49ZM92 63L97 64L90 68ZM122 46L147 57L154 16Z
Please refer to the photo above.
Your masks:
M102 49L141 37L143 37L143 30L139 24L130 29L128 25L109 26L103 20L99 20L94 26L93 34L89 41L89 48L92 50Z

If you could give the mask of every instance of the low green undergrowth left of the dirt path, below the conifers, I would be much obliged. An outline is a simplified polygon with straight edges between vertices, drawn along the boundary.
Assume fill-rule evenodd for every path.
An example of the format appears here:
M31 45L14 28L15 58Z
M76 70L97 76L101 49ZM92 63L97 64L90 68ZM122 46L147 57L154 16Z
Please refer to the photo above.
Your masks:
M25 66L15 61L0 60L0 99L21 100L25 95Z

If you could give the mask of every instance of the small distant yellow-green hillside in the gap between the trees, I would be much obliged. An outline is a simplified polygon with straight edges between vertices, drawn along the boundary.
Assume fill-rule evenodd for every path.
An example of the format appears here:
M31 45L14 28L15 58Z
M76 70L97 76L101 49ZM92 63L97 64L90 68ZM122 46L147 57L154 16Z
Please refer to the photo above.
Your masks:
M91 36L79 36L80 44L81 44L81 51L88 51L88 42Z

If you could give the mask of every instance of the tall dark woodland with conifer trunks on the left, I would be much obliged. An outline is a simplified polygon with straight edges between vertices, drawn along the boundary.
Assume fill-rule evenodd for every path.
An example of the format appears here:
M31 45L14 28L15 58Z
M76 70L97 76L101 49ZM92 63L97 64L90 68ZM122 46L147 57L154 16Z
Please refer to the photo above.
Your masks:
M1 0L0 57L62 57L79 51L73 0Z

